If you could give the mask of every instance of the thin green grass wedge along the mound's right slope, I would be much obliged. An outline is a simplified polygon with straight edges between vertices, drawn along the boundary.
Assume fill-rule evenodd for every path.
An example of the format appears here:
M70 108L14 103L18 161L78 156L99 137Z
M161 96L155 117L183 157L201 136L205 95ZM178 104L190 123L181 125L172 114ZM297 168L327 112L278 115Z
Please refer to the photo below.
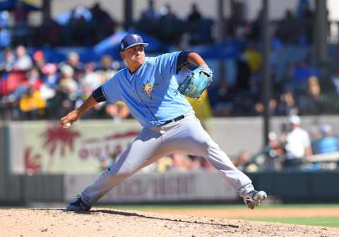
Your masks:
M339 217L252 217L234 218L249 221L280 222L285 224L302 224L306 226L339 227Z

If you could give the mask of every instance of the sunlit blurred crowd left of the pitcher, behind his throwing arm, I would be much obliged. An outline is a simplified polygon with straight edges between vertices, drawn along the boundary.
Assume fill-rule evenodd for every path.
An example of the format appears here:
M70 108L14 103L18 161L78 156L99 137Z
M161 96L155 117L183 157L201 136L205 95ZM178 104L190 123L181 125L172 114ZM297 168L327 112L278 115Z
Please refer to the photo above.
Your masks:
M58 119L112 78L120 66L110 56L102 56L96 65L82 63L76 52L70 52L66 61L49 63L42 51L30 56L22 45L15 51L7 49L0 64L1 119ZM124 104L100 103L84 119L120 121L128 116Z

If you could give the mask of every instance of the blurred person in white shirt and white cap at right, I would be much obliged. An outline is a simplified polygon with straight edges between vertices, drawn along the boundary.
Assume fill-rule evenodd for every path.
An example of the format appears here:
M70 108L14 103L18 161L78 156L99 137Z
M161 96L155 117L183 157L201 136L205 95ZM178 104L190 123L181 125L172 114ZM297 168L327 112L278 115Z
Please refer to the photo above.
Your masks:
M301 120L297 115L291 115L288 118L290 131L286 135L285 150L286 159L284 162L285 167L295 167L304 162L304 159L312 155L311 141L309 133L300 128Z

